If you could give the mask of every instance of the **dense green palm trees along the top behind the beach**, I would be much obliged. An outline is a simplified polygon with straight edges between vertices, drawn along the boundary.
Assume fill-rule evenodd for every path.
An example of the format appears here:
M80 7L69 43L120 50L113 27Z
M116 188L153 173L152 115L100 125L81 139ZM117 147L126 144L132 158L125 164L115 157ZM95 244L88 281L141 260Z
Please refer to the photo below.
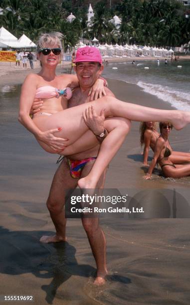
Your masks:
M16 37L24 32L34 42L41 32L61 31L64 45L75 45L79 38L96 38L102 42L180 46L190 41L190 18L178 0L110 0L91 1L94 8L92 26L87 26L89 2L84 0L0 0L4 9L3 25ZM8 8L7 8L8 7ZM70 13L76 16L66 21ZM109 21L117 14L120 29Z

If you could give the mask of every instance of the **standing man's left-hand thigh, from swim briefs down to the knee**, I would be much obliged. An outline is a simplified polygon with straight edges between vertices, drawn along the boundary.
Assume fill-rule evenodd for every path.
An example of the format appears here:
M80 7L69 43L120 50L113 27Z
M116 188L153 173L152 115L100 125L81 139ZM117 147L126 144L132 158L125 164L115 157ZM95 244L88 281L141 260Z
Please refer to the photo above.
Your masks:
M71 177L68 161L64 158L53 177L48 201L64 205L65 196L69 193L69 189L77 187L77 182L78 179Z

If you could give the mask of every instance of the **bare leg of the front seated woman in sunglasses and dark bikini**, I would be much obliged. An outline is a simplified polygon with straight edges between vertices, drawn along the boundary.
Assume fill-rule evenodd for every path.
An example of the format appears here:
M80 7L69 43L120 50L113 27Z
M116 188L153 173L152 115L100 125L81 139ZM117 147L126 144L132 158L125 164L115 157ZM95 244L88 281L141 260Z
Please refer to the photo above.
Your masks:
M176 165L176 168L173 166L164 166L163 172L166 177L171 177L171 178L187 177L190 176L190 164Z

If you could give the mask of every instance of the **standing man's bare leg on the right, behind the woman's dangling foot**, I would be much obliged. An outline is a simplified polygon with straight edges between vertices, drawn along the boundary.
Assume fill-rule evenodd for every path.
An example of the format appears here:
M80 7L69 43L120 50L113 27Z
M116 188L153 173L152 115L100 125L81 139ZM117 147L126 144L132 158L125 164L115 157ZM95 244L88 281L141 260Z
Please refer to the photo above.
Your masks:
M81 178L88 175L93 163L94 160L88 162L85 165L81 174ZM99 189L100 191L104 187L105 177L106 170L102 174L97 184L97 189ZM92 249L92 253L96 261L97 274L94 284L102 285L105 283L105 277L108 273L106 266L106 239L104 236L104 232L102 231L99 225L99 218L82 218L82 224L84 230L86 231L90 247Z

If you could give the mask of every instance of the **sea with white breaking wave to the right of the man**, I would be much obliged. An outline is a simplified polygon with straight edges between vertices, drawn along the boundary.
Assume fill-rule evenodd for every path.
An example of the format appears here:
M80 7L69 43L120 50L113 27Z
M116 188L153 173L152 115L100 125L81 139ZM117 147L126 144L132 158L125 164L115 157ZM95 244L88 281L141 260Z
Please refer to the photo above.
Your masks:
M160 60L159 66L157 59L142 59L135 65L132 62L109 63L105 66L104 76L137 84L176 109L190 111L190 60L180 60L179 63L168 60L167 65Z

